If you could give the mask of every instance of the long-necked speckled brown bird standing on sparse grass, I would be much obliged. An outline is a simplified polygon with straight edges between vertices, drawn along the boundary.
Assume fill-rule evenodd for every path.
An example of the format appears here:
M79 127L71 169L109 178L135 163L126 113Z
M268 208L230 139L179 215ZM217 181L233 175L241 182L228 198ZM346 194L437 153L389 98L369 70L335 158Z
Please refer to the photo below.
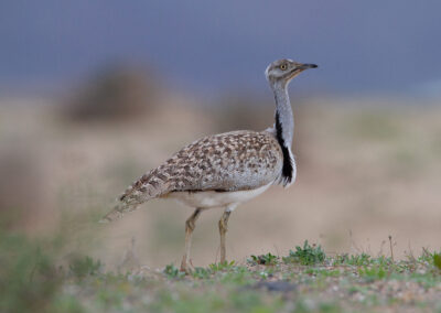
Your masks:
M236 130L201 138L142 175L119 196L101 223L114 222L152 198L173 198L194 208L185 222L185 250L181 271L190 273L192 234L201 213L223 208L218 222L220 262L226 262L226 233L235 208L271 185L288 187L295 181L292 153L294 119L288 94L292 78L315 64L277 60L265 71L276 101L275 123L262 130Z

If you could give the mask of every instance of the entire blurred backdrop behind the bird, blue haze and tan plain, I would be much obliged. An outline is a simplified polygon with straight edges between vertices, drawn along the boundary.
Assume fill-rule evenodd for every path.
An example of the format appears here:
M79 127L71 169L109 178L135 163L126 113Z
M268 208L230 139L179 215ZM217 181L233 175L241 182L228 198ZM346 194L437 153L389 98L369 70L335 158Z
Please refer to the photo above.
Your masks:
M1 1L0 227L62 238L109 268L179 263L191 208L151 201L96 222L186 143L273 123L266 66L291 84L298 181L241 205L229 259L440 249L439 1ZM220 209L193 263L218 260ZM387 245L386 245L387 244ZM127 258L126 258L127 259Z

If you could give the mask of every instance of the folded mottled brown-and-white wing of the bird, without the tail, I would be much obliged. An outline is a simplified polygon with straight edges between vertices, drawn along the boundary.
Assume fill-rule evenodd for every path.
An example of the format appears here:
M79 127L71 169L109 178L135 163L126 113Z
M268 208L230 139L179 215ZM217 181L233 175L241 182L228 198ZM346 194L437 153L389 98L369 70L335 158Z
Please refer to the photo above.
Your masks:
M234 131L197 140L162 166L172 191L252 190L277 179L282 152L268 132Z

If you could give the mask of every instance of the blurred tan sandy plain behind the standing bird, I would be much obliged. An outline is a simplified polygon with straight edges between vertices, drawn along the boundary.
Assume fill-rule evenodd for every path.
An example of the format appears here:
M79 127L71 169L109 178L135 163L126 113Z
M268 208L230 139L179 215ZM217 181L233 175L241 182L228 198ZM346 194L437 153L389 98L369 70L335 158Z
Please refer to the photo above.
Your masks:
M14 100L17 101L17 100ZM135 238L138 262L179 263L191 208L151 201L111 224L95 222L128 184L182 145L218 129L213 111L174 99L130 122L73 123L51 106L3 99L0 106L2 211L21 208L12 227L63 234L78 251L120 263ZM294 106L298 180L239 206L227 235L229 259L287 255L305 239L327 253L389 255L441 249L441 109L357 106L314 99ZM272 123L271 114L267 116ZM218 260L220 209L197 222L193 263Z

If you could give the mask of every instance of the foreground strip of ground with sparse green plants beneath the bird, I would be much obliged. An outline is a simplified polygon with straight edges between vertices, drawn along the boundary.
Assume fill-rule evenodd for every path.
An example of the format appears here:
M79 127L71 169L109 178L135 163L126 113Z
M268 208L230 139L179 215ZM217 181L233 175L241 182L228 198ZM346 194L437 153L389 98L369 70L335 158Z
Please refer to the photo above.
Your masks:
M326 256L308 241L278 257L110 272L76 256L53 263L23 237L0 240L1 312L441 312L441 255ZM8 252L7 252L8 250Z

